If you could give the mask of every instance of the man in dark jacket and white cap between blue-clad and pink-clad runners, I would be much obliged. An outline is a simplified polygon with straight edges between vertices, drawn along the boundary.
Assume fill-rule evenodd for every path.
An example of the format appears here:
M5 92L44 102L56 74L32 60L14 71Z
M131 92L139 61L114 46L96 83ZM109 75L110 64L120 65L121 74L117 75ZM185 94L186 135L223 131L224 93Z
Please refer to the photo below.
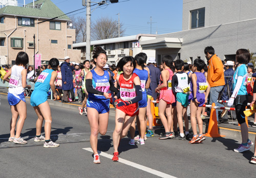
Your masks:
M161 71L159 68L155 67L152 63L156 63L156 61L155 59L150 58L147 64L148 68L150 69L150 80L151 80L150 90L152 91L152 97L154 98L154 100L156 100L157 93L155 92L155 89L160 84Z

